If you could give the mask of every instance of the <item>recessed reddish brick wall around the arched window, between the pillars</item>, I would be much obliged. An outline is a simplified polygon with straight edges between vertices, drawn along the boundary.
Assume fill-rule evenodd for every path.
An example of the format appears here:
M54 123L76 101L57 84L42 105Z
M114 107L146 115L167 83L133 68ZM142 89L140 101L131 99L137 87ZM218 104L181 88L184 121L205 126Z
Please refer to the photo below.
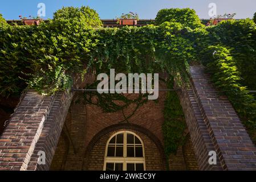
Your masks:
M165 84L161 83L161 88L165 88ZM143 138L146 148L147 169L166 169L161 128L164 121L162 110L164 109L165 96L166 92L160 92L159 102L149 101L140 107L135 115L128 120L129 123L119 123L124 119L121 111L103 113L100 107L78 104L74 100L65 123L68 131L63 131L68 132L72 140L70 142L70 150L65 157L64 169L102 170L105 144L108 138L113 131L124 129L134 131ZM131 111L132 109L128 108L125 113L131 113ZM63 147L63 142L59 142L58 148ZM193 150L193 148L190 148L190 150ZM178 154L170 156L169 159L170 169L186 169L182 147L179 148ZM52 167L51 169L55 168Z

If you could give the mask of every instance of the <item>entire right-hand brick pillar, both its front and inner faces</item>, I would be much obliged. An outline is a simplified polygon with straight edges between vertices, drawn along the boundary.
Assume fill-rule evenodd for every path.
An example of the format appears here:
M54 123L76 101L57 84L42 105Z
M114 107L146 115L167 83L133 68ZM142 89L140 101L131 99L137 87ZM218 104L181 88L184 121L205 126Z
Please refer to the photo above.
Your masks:
M253 142L203 67L190 67L190 82L178 94L200 170L256 170ZM209 151L217 152L217 165L209 164Z

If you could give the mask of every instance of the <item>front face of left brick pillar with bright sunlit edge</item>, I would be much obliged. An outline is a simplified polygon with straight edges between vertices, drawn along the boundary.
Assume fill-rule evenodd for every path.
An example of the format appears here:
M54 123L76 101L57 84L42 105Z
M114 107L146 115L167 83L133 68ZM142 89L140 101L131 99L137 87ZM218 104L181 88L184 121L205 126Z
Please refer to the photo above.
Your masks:
M55 96L26 93L0 138L0 170L26 170Z

